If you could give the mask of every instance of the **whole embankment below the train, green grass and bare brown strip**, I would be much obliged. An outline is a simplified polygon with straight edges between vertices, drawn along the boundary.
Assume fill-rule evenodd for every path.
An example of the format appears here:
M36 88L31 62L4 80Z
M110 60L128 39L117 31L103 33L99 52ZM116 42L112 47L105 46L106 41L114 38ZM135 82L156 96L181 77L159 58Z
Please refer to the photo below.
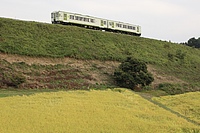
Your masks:
M90 83L113 86L112 71L120 61L132 56L147 62L156 79L152 86L154 89L167 89L166 93L176 94L200 88L199 50L168 41L75 26L0 18L0 53L2 56L14 55L13 59L17 56L28 58L28 61L16 61L17 63L1 58L1 75L5 70L13 70L16 75L20 73L18 76L24 77L26 81L33 81L27 87L63 88L58 86L63 83L64 88L73 88L76 82L80 86L87 86L83 89L91 87ZM52 64L29 64L31 58L43 63L47 60L62 60L62 63L55 61ZM66 59L74 61L65 63ZM80 61L90 65L83 63L80 67L78 63L74 64ZM113 65L109 62L104 66L104 62L108 61L117 63ZM70 71L74 73L70 75ZM68 77L65 77L67 74ZM37 80L40 78L43 80ZM70 79L70 83L65 83L66 79Z

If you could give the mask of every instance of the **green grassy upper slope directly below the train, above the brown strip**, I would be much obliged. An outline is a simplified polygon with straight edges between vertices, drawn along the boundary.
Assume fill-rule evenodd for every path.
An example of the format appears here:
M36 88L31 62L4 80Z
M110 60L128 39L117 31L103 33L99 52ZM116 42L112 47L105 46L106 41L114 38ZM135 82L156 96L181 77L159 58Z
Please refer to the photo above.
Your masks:
M160 89L171 87L181 92L200 86L198 49L148 38L0 18L0 52L102 61L121 61L133 56L151 64L158 73L185 83L162 84Z

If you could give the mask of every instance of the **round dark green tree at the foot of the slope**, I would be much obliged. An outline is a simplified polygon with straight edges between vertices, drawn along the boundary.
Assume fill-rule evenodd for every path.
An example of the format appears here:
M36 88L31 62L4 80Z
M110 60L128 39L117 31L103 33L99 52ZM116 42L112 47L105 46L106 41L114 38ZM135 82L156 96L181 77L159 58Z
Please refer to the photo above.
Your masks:
M114 72L118 86L134 90L136 86L146 86L153 82L153 76L148 73L146 63L128 57Z

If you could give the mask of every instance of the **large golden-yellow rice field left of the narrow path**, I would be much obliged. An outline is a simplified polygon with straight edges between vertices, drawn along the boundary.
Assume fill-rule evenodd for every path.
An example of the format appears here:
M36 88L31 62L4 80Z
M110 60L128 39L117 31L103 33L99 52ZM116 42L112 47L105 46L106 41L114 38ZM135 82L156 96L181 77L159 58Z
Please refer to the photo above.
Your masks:
M2 97L0 107L1 133L200 132L200 127L123 89Z

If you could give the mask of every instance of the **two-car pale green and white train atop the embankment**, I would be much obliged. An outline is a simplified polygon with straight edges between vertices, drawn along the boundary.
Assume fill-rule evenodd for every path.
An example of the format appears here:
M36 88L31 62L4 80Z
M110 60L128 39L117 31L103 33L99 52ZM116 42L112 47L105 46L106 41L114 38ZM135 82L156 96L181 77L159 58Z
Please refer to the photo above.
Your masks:
M92 17L78 13L54 11L51 13L51 22L52 24L75 25L90 29L141 36L141 26L139 25Z

